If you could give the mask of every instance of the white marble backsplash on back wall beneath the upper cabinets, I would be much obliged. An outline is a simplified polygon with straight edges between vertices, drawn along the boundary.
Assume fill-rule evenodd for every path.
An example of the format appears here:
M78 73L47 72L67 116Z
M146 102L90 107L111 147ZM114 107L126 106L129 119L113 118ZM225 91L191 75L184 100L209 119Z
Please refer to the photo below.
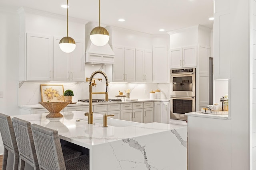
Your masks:
M106 83L103 79L96 81L96 87L92 87L92 92L105 92ZM77 102L79 99L89 98L89 83L88 82L20 82L18 105L38 104L41 102L40 84L63 84L64 91L71 89L74 92L72 101ZM148 99L149 92L152 90L161 90L161 99L168 99L170 94L169 83L109 83L108 98L116 98L118 90L130 89L130 99ZM92 98L104 98L104 94L94 94Z

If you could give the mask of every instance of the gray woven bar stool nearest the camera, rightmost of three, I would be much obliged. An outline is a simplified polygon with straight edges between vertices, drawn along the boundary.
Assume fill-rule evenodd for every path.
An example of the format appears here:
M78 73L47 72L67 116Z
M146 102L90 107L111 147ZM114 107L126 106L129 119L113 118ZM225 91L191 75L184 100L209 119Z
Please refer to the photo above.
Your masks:
M43 170L89 170L89 156L64 160L58 131L32 124L36 154Z

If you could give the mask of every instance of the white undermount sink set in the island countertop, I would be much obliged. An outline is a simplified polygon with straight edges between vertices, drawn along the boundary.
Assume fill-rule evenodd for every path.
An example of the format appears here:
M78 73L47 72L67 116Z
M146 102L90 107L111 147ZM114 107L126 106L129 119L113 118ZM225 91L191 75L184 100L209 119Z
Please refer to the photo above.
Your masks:
M97 119L93 120L94 123L100 123L103 125L103 119ZM126 121L126 120L120 120L120 119L112 119L109 118L107 125L114 126L114 127L126 127L126 126L134 126L134 125L141 125L143 123L138 123L134 121Z

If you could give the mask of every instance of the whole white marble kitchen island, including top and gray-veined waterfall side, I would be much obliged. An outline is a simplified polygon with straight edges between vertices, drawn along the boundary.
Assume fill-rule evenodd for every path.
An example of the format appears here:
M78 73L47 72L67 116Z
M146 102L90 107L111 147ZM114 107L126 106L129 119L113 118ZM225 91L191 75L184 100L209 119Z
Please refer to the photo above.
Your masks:
M61 113L63 118L46 118L48 113L12 117L56 129L60 139L88 149L90 170L187 168L186 126L108 119L108 127L102 127L103 115L94 114L88 124L82 111Z

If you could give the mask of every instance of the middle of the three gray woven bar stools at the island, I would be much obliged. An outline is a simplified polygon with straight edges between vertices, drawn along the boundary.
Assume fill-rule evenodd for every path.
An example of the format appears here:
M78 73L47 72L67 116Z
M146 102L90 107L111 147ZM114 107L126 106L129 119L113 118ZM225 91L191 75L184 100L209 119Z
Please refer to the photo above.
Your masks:
M17 117L12 118L12 123L20 154L19 170L24 170L25 162L34 167L35 170L39 170L31 123ZM66 146L62 146L62 152L64 160L77 158L82 154L82 152Z

